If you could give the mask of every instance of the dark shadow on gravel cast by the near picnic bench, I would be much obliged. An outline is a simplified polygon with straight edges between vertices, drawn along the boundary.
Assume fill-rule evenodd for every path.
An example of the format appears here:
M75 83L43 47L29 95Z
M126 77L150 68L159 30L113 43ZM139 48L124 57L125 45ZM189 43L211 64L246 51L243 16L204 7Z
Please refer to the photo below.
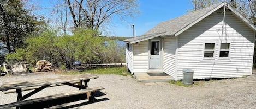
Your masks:
M94 92L94 97L101 97L104 96L106 94L97 91ZM75 102L75 101L79 101L79 100L86 100L86 94L80 94L80 95L74 95L71 97L65 97L65 98L59 98L59 99L55 99L55 100L48 100L48 101L44 101L44 102L35 102L31 105L24 105L21 106L20 108L38 108L38 109L43 109L43 108L50 108L52 106L55 106L54 108L74 108L74 107L79 107L79 106L83 106L83 105L88 105L88 104L93 104L95 102L100 102L100 101L106 101L109 100L108 98L102 98L102 99L94 99L92 102L89 101L85 101L79 104L75 104L75 105L70 105L70 106L61 106L62 104L66 104L66 103L70 103L70 102ZM57 106L60 105L60 106Z

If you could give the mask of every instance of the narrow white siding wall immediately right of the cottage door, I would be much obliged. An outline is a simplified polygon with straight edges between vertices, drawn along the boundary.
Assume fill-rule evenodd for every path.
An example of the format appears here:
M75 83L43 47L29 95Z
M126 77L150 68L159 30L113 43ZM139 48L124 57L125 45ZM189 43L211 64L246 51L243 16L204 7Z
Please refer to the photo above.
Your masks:
M163 72L175 78L177 42L174 38L164 38L163 40Z

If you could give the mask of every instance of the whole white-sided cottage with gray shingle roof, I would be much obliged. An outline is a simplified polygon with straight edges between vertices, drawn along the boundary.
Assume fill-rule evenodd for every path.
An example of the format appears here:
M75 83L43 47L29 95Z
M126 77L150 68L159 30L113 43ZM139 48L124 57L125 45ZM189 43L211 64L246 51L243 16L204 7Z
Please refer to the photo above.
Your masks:
M144 35L124 40L133 73L164 72L175 80L183 69L193 79L252 75L256 28L227 2L164 21Z

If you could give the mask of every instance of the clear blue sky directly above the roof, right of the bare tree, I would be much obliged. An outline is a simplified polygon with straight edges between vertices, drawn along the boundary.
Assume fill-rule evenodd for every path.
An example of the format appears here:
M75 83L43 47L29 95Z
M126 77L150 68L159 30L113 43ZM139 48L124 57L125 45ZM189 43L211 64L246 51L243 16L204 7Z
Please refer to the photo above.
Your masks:
M187 14L192 9L190 0L141 0L139 5L140 14L129 20L134 24L136 36L146 33L160 22ZM114 23L114 35L132 37L132 24L117 22Z

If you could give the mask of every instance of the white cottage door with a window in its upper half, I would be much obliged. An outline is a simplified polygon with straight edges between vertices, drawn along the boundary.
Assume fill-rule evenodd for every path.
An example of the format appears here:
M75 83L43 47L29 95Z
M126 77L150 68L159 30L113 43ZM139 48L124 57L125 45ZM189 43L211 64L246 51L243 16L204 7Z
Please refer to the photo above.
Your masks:
M159 69L162 66L160 40L152 40L150 45L150 69Z

